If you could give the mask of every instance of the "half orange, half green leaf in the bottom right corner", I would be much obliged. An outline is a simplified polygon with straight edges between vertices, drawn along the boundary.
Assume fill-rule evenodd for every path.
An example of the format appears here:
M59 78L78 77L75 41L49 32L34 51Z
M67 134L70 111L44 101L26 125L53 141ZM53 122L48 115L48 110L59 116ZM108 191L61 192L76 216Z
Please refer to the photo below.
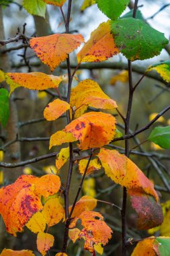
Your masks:
M151 236L145 238L143 241L138 242L134 248L132 256L140 255L151 256L169 256L170 255L170 237L165 236Z

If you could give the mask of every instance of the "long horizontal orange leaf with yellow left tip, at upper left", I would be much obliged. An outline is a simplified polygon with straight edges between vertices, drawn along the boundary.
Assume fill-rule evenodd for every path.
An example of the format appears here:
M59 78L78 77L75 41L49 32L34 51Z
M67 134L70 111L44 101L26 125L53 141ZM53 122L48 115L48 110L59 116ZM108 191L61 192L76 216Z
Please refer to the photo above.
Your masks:
M62 81L61 76L46 75L40 72L31 73L6 73L6 82L10 86L10 94L22 86L30 90L45 90L49 88L57 88Z

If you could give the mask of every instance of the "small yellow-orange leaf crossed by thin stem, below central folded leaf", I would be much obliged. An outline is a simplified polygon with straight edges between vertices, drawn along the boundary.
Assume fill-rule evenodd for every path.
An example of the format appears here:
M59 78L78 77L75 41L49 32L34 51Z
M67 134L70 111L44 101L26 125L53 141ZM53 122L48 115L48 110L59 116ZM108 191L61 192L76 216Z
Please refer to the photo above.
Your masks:
M85 168L87 166L87 159L83 159L79 161L79 171L80 173L83 175L83 173L85 172ZM89 162L89 166L87 168L87 172L86 174L90 174L91 172L93 172L94 170L99 170L101 168L101 164L99 164L97 162L97 159L93 159Z

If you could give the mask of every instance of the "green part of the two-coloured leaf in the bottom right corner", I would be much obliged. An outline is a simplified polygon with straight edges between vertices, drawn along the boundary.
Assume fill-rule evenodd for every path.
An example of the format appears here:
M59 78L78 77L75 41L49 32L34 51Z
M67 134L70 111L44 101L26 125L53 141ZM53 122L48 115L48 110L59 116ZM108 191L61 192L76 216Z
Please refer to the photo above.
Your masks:
M159 256L170 255L170 238L165 236L159 236L155 239L154 249Z

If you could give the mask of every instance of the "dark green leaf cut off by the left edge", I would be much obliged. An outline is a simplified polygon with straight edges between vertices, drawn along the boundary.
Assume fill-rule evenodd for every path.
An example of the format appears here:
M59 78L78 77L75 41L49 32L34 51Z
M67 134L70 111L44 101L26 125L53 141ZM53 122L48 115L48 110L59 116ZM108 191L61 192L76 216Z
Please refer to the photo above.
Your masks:
M0 89L0 121L3 127L9 119L9 93L6 89Z

